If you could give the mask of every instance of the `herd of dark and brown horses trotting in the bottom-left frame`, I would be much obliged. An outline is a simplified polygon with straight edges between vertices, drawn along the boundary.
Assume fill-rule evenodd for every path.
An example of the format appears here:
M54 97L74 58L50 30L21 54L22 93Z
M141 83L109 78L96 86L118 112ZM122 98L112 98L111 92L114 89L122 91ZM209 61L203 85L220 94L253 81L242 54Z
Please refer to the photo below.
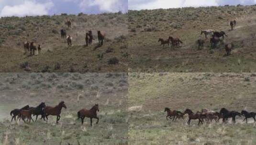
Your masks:
M26 105L22 107L21 109L13 109L10 113L11 115L11 122L13 121L21 121L21 119L25 121L27 119L27 122L34 121L32 118L33 116L36 116L35 121L37 120L38 116L41 115L41 119L45 118L48 121L48 116L53 115L56 116L56 124L58 124L58 121L60 120L60 114L61 109L65 108L67 109L67 106L64 101L61 101L56 106L46 106L44 102L39 104L36 107L30 107L29 105ZM97 112L99 112L99 104L95 104L91 109L81 109L78 111L78 119L81 119L81 123L84 123L84 118L88 117L90 118L90 125L92 126L92 119L97 119L96 124L99 123L99 117L97 117Z

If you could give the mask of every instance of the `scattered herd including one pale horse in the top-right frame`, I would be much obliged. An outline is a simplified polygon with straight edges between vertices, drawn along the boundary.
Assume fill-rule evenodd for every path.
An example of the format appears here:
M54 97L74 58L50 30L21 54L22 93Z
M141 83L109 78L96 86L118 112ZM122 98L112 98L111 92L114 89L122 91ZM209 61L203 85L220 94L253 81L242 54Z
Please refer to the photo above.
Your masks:
M230 27L231 30L234 30L234 27L236 26L236 21L230 21ZM202 35L205 35L205 39L208 39L208 35L210 35L210 46L213 48L216 48L217 44L220 41L223 41L223 39L226 37L228 37L225 33L225 31L214 31L214 30L203 30L201 31ZM158 42L161 42L160 46L163 45L163 48L165 48L165 45L167 44L168 46L171 44L171 48L173 48L174 46L179 47L180 43L183 43L182 41L180 41L179 38L173 38L171 36L169 36L169 38L167 40L159 38ZM198 50L200 50L201 47L204 47L204 43L206 42L204 39L198 39L197 41L198 44ZM227 55L231 54L231 50L233 49L233 45L232 44L225 44L225 51L227 53Z

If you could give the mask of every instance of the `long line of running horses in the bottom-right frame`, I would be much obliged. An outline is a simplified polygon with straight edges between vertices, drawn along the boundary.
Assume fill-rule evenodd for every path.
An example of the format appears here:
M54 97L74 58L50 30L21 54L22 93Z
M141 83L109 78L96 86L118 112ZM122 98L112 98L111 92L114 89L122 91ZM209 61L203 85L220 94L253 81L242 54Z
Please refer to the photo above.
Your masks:
M202 109L201 112L197 111L196 113L193 113L190 109L186 109L183 113L178 110L171 111L170 108L166 107L165 112L167 112L166 119L172 119L172 121L176 120L177 118L182 118L184 120L184 115L188 114L189 120L188 124L190 124L191 120L199 120L198 124L203 124L204 120L207 122L212 122L212 120L215 120L215 122L219 122L219 120L222 118L223 123L227 123L229 118L232 118L232 122L235 123L235 117L236 116L244 116L245 119L243 121L246 121L248 118L253 118L254 122L256 122L256 113L255 112L247 112L245 110L242 110L241 113L237 111L229 111L226 108L222 108L220 112L217 111L211 111L208 109ZM172 118L173 117L173 118Z

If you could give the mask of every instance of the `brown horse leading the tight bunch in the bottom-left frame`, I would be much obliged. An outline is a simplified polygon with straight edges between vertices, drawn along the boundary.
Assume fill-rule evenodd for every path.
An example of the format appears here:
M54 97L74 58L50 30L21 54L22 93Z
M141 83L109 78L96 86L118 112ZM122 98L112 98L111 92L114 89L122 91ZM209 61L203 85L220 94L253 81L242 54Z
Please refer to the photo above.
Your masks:
M56 119L56 124L58 124L58 121L60 120L60 113L61 113L61 109L62 107L64 107L65 109L67 109L67 106L65 104L64 101L61 101L58 105L56 105L55 107L51 107L51 106L45 106L44 109L44 121L45 121L45 117L48 120L48 116L49 115L53 115L53 116L57 116Z

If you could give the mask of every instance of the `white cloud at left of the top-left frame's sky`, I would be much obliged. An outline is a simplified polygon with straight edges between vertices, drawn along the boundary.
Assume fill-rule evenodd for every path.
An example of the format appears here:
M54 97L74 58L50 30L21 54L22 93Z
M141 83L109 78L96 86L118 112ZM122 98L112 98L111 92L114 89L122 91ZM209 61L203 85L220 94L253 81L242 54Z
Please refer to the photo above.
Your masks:
M5 16L36 16L46 15L48 10L53 8L54 4L51 1L45 3L37 3L34 0L24 0L23 3L18 5L6 5L0 12L0 17Z

